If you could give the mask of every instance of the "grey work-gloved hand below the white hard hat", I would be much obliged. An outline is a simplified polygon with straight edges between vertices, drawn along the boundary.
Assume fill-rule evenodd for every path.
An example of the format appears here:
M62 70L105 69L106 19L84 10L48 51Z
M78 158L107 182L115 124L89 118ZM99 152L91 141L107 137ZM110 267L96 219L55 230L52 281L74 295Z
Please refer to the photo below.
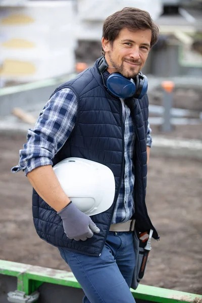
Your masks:
M93 236L93 232L100 232L90 217L79 211L72 202L57 214L63 220L63 227L69 239L85 241Z

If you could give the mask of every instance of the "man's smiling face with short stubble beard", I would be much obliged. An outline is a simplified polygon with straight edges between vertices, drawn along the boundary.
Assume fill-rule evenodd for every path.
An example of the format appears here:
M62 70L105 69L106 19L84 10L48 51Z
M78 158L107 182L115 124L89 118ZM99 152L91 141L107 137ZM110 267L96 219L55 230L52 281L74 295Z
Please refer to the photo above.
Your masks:
M108 68L108 71L119 72L127 78L134 78L144 66L150 49L150 41L150 29L129 31L123 28L113 43L102 38L107 63L116 68Z

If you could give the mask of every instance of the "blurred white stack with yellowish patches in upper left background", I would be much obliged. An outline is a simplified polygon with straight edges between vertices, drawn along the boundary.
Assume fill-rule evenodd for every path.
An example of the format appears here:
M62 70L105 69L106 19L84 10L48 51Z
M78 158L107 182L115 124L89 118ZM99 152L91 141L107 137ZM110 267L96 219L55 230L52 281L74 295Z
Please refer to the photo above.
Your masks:
M1 7L2 78L27 82L73 72L73 22L73 1L30 1Z

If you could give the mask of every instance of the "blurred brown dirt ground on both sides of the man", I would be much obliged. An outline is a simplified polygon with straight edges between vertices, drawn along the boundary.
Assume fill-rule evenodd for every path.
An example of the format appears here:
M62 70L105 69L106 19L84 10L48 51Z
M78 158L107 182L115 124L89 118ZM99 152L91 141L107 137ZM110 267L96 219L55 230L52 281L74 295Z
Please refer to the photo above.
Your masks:
M58 249L35 232L28 179L10 172L25 140L0 134L0 259L66 270ZM143 284L202 294L201 180L201 162L151 150L146 200L161 239L153 240Z

